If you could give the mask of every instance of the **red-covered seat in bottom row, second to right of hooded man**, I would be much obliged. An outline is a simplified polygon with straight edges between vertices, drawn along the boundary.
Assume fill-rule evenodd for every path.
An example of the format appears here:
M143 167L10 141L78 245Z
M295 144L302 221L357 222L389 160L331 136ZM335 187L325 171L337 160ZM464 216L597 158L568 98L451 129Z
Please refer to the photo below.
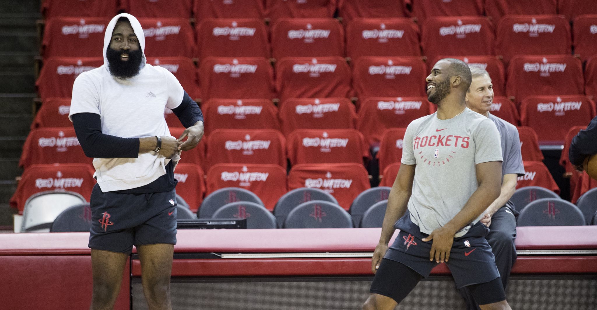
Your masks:
M241 187L255 193L272 211L288 192L286 170L268 164L217 164L207 172L207 195L224 187Z

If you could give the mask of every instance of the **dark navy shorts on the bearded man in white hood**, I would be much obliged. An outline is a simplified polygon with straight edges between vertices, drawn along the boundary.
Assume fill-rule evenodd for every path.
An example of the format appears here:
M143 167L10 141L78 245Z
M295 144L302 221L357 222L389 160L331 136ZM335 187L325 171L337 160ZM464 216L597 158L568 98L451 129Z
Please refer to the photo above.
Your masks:
M89 247L131 253L133 245L176 245L176 191L124 194L91 192Z

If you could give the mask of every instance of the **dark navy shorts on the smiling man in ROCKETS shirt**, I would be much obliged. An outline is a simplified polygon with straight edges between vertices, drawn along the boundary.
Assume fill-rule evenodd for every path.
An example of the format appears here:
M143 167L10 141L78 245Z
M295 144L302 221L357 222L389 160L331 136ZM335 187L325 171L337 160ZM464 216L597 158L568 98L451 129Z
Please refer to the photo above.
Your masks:
M429 236L421 233L419 227L411 221L410 216L402 217L396 222L400 233L387 250L384 258L401 262L423 277L437 265L435 258L429 260L429 252L433 240L423 242ZM450 260L446 262L458 288L471 284L486 283L500 277L496 267L496 259L485 236L489 228L481 222L476 223L462 237L454 238L450 250Z

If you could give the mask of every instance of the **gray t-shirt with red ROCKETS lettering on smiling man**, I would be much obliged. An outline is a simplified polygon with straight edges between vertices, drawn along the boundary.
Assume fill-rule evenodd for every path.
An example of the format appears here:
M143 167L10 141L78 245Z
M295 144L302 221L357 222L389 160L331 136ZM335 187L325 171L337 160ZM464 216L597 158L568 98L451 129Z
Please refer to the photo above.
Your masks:
M408 210L426 234L445 226L475 192L476 164L502 160L500 134L489 118L469 108L449 120L436 115L411 122L402 149L402 164L416 165ZM454 237L466 234L481 216Z

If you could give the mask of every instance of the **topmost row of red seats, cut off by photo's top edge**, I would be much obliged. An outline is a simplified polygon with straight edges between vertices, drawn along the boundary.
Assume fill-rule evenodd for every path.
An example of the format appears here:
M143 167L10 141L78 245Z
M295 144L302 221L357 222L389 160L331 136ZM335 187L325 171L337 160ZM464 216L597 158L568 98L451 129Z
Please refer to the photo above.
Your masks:
M343 20L363 17L415 17L420 21L433 16L487 15L499 20L506 14L563 14L568 20L597 10L583 0L44 0L42 14L56 16L111 17L125 10L139 17L264 18L333 17Z

